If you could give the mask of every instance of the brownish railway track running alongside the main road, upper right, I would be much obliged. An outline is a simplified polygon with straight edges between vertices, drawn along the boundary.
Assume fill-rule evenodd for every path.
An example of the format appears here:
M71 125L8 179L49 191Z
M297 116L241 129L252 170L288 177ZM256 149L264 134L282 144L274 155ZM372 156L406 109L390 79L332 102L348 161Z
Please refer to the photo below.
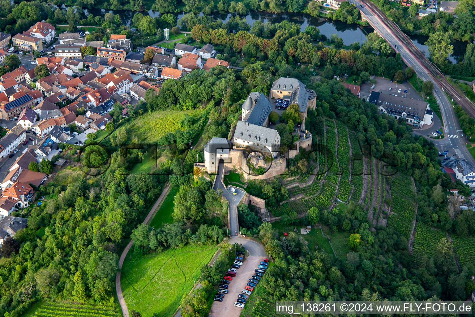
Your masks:
M401 41L401 43L409 49L412 55L418 59L422 66L426 68L426 70L442 88L442 90L451 96L456 101L456 103L459 104L462 109L464 109L470 116L475 118L475 105L460 90L452 86L447 81L444 74L434 64L432 64L432 62L430 62L428 58L418 50L418 48L416 48L409 36L403 33L395 22L388 19L386 15L380 10L380 8L378 8L374 3L365 1L364 4L366 4L386 25L386 27L391 30L394 36L396 36L399 41Z

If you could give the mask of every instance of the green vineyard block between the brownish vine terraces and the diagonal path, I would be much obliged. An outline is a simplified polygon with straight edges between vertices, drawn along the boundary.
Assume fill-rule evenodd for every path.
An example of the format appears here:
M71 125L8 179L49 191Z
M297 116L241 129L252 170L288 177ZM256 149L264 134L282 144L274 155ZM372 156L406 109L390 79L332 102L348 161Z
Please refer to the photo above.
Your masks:
M411 179L407 176L396 175L392 182L391 193L393 203L388 226L396 228L409 239L416 212L416 194L412 189Z

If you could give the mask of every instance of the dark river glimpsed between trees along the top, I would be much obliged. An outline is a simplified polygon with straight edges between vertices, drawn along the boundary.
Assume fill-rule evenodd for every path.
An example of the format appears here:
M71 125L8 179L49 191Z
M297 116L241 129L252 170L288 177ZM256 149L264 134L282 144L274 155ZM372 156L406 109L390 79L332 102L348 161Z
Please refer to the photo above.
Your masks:
M64 5L62 8L65 8ZM92 13L94 16L104 16L106 12L113 12L114 14L119 14L123 22L126 25L130 25L133 15L136 13L131 10L104 10L104 9L84 9L85 15ZM160 17L160 12L149 10L148 14L152 17ZM186 13L182 12L178 15L180 20ZM203 13L200 13L203 15ZM212 12L211 17L215 19L221 19L224 22L228 21L232 16L230 13L219 13ZM338 20L331 20L325 18L316 18L311 16L308 13L300 12L282 12L282 13L271 13L265 11L252 11L246 16L242 16L246 19L249 25L253 25L255 21L261 20L263 23L270 21L272 23L279 23L284 20L300 24L300 30L304 29L311 25L315 26L320 30L320 34L325 35L327 38L330 38L332 34L337 34L338 37L343 39L344 45L350 45L353 42L357 41L360 44L366 39L366 35L371 33L373 29L371 27L362 27L357 24L347 24ZM424 43L427 41L428 37L423 35L410 35L413 43L416 47L424 52L427 56L429 55L428 47ZM454 53L449 56L449 60L453 63L457 62L457 59L464 56L468 42L454 41Z

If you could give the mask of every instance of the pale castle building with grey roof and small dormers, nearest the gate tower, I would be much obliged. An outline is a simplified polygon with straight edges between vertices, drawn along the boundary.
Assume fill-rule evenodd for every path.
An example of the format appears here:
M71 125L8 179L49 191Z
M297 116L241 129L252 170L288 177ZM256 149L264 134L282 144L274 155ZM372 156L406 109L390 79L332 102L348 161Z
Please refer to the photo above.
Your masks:
M273 157L279 154L280 135L277 130L237 121L233 138L237 148L249 148L263 155L272 154Z

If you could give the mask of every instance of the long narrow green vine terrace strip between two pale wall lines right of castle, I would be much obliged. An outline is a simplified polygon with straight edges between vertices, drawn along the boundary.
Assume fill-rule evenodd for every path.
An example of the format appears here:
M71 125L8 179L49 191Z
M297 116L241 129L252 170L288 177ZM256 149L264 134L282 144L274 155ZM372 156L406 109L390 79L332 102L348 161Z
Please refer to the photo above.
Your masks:
M353 187L350 184L350 144L348 143L346 125L340 121L337 121L336 125L338 131L338 163L342 173L336 197L342 202L348 202Z

